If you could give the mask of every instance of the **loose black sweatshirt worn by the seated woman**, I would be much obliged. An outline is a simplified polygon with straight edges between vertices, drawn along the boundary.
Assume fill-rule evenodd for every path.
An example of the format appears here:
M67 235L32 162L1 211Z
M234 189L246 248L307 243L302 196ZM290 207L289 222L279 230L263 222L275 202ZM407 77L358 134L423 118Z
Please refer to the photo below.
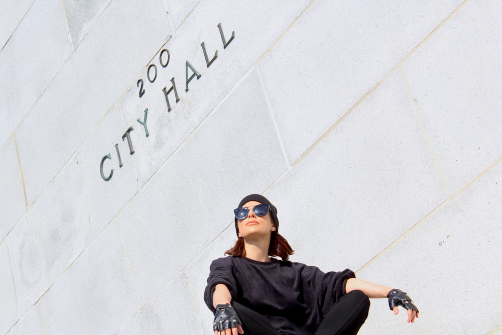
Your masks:
M214 287L225 284L232 301L262 314L280 333L308 334L346 293L349 278L355 278L349 269L324 273L302 263L229 256L211 263L204 301L214 313Z

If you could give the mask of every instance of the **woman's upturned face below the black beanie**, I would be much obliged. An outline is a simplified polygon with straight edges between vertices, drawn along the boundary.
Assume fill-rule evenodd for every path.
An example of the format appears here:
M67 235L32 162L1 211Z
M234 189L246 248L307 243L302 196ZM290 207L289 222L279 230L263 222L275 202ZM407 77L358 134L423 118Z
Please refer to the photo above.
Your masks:
M249 208L247 216L243 219L237 220L239 237L242 237L244 240L260 236L268 236L270 238L272 232L276 230L272 224L270 209L265 216L257 216L253 211L253 207L255 205L259 205L260 203L261 202L258 201L248 201L242 206Z

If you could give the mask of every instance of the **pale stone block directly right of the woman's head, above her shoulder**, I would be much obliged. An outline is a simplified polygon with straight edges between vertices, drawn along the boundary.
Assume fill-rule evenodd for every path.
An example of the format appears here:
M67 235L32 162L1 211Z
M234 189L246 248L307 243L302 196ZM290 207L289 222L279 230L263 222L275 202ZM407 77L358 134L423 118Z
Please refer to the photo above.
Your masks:
M445 201L400 71L266 196L296 249L291 259L323 271L356 271Z

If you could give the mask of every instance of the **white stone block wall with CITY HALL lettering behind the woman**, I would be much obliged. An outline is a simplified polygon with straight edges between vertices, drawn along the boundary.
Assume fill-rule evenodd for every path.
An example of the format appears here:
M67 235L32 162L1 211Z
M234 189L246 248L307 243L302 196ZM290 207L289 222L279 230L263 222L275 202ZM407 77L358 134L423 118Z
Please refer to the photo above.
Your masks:
M407 324L373 299L361 334L501 333L501 12L3 4L0 333L211 334L209 264L248 193L278 207L293 261L420 308Z

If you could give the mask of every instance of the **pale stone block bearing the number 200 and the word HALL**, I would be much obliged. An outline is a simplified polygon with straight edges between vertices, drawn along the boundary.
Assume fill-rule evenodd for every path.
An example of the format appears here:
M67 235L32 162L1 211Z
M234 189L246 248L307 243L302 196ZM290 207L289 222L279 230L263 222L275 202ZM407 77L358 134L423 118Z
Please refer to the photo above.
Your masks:
M143 185L169 158L193 130L222 101L229 91L241 80L257 59L274 43L280 34L295 20L307 6L307 2L296 2L293 6L277 3L263 3L261 6L251 2L201 2L183 23L182 29L164 45L153 58L139 79L144 82L145 93L140 98L141 84L134 82L120 101L126 125L139 125L137 119L143 120L144 110L148 108L149 132L147 139L142 137L138 142L138 157L146 155L136 162L138 178ZM236 15L239 13L239 15ZM218 29L221 28L226 49ZM264 29L264 27L267 27ZM258 32L258 33L257 33ZM205 43L209 62L218 52L217 58L209 67L206 65L201 43ZM160 61L162 53L163 68ZM201 75L194 77L186 91L187 73L194 72L186 62ZM155 77L155 68L157 77ZM150 77L148 70L150 68ZM150 83L151 81L155 81ZM174 90L168 94L171 111L168 111L163 88L168 91L174 78L179 102L176 102ZM251 101L250 103L255 103ZM235 109L246 107L237 104ZM136 136L136 134L135 134Z

